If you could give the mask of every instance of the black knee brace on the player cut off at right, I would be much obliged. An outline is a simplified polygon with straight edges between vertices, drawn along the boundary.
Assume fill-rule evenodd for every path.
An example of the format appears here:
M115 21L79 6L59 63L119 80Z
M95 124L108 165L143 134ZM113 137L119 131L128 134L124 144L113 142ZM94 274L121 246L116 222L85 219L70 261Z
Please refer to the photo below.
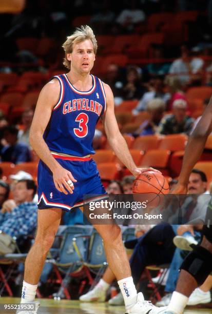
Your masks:
M181 269L187 271L202 285L211 272L212 254L204 247L193 245L194 251L190 252L181 265Z

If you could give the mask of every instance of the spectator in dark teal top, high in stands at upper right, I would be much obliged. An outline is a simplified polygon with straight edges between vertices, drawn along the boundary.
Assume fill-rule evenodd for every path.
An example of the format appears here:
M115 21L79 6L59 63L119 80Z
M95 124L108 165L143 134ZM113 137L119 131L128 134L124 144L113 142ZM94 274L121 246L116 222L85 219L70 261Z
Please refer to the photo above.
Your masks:
M163 46L159 44L151 44L151 59L153 63L148 63L146 69L152 75L165 75L168 73L170 63L163 63L164 58Z

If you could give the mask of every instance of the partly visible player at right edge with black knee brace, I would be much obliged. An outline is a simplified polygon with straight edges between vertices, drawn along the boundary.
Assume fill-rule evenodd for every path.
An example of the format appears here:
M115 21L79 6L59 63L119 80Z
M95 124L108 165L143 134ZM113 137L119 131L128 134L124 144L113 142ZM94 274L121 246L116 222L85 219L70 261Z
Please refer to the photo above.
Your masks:
M175 194L186 194L188 178L192 168L199 160L208 135L212 131L212 97L201 120L190 135L185 149L183 165L178 184L172 190ZM176 291L172 294L166 314L181 314L191 292L201 286L212 270L212 200L208 204L205 225L202 229L203 240L188 254L181 265L180 277Z

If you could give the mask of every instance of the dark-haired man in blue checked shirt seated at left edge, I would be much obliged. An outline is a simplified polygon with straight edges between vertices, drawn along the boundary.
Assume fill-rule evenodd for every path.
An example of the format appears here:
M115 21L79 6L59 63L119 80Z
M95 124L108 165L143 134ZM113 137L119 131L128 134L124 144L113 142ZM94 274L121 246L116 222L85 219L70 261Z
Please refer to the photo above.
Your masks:
M0 254L14 251L13 237L30 234L37 224L37 205L32 202L36 193L33 180L18 181L13 189L17 206L0 226Z

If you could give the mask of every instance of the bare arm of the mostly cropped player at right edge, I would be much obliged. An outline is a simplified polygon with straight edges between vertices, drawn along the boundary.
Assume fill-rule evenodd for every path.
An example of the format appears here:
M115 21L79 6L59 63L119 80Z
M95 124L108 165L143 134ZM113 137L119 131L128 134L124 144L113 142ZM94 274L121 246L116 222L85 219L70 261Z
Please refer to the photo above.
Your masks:
M186 193L189 175L198 162L208 135L212 131L212 97L210 97L209 104L207 105L203 115L197 124L196 128L189 136L188 143L185 148L185 154L183 158L183 165L180 172L178 184L172 190L172 193Z

